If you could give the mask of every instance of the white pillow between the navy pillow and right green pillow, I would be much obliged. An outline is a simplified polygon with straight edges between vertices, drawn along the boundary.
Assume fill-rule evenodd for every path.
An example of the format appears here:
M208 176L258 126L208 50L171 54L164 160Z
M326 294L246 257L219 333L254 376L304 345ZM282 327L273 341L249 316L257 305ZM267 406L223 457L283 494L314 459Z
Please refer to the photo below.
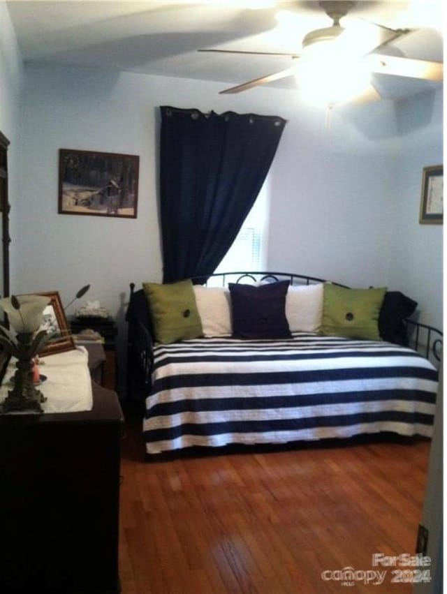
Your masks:
M318 332L323 315L323 283L290 286L286 318L291 332Z

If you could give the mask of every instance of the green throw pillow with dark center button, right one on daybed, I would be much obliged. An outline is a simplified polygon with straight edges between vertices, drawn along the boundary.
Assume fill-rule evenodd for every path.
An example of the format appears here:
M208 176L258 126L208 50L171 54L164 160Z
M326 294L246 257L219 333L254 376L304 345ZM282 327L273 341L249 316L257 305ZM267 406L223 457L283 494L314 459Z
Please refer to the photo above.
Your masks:
M325 283L321 334L381 340L379 313L386 288L348 289Z

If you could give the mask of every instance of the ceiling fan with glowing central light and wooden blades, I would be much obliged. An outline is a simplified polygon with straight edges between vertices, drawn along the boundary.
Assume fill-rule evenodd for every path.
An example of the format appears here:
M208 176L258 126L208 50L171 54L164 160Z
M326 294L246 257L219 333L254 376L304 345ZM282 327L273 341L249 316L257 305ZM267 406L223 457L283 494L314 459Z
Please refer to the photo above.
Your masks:
M316 98L325 105L339 103L349 98L356 101L377 101L381 95L370 83L371 73L416 78L427 81L443 80L443 63L423 59L409 59L376 52L391 42L411 33L410 29L390 29L386 25L360 20L340 25L351 8L356 6L351 0L321 0L318 5L332 19L332 26L310 31L302 40L302 52L272 52L247 50L198 50L199 52L222 52L233 54L256 54L287 56L294 66L271 74L237 84L220 93L240 93L253 87L281 80L295 75L302 94ZM284 24L291 21L288 11L277 13L281 20L281 41L284 37ZM279 19L279 17L281 17ZM278 28L279 29L279 28ZM296 64L296 66L295 66Z

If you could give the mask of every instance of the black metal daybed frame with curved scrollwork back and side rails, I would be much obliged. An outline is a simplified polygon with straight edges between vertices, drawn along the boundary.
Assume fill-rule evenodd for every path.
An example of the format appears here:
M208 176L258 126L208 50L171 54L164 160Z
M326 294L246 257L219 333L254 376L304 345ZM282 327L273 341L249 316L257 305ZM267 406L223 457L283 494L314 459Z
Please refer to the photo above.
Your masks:
M220 280L214 285L214 280ZM316 276L294 274L291 272L215 272L207 276L194 276L191 281L194 284L226 287L228 283L242 283L250 281L253 283L262 281L288 280L291 285L312 285L328 282L326 279L319 279ZM331 281L332 282L332 281ZM339 287L348 288L347 285L332 283ZM127 388L128 394L137 398L144 398L150 387L154 340L149 332L149 325L142 324L141 320L129 315L130 306L133 300L139 299L145 305L145 297L142 290L135 292L135 283L130 283L131 296L129 300L126 320L129 323L128 351L127 351ZM149 316L149 309L147 308ZM443 333L441 330L418 322L416 320L404 320L406 325L409 346L420 352L434 366L439 367L442 356Z

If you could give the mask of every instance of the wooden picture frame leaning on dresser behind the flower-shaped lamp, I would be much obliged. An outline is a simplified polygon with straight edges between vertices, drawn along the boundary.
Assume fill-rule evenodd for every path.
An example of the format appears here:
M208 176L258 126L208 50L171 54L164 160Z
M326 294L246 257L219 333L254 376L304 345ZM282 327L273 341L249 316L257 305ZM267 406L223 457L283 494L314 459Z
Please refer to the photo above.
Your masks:
M39 356L45 357L45 355L52 355L54 352L63 352L75 348L75 341L68 327L59 292L38 292L36 295L50 297L50 303L43 310L43 323L40 329L46 330L47 334L53 335L43 351L39 353Z

